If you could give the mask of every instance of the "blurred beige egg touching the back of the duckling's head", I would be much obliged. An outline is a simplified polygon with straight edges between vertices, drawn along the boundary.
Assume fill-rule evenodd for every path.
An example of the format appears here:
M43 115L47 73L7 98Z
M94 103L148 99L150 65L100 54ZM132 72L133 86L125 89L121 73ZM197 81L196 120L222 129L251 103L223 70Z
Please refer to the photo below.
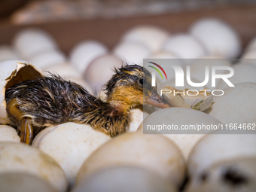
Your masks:
M120 68L123 61L117 56L106 54L99 56L90 62L87 70L84 73L84 79L90 84L95 93L102 89L108 80L114 75L114 68Z

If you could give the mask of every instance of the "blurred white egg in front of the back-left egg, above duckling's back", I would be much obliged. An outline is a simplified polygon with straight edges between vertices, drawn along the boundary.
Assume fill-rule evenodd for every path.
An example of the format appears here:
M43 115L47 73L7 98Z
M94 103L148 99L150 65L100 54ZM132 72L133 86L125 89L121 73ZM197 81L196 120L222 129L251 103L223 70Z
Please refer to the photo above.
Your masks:
M66 61L66 56L60 50L48 50L32 56L30 62L38 69L47 69Z

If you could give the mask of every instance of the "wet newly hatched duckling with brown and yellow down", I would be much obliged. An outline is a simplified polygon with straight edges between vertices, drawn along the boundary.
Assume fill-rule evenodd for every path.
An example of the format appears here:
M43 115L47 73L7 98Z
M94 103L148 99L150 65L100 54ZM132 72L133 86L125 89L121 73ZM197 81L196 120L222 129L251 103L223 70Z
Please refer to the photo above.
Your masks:
M126 132L132 119L130 109L136 105L169 107L156 87L151 87L151 74L142 66L123 66L115 72L106 84L106 102L57 75L8 88L7 113L20 130L21 142L30 144L33 136L45 127L69 121L88 123L113 137Z

